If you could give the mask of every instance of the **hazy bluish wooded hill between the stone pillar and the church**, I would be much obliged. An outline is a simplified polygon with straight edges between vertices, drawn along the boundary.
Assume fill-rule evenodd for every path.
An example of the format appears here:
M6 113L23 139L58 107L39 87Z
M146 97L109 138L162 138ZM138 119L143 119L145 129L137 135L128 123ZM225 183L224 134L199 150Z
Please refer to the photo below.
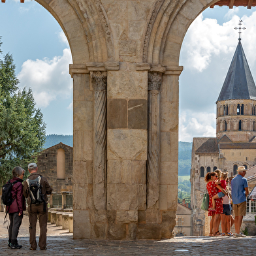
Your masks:
M179 176L190 175L192 142L179 141Z

